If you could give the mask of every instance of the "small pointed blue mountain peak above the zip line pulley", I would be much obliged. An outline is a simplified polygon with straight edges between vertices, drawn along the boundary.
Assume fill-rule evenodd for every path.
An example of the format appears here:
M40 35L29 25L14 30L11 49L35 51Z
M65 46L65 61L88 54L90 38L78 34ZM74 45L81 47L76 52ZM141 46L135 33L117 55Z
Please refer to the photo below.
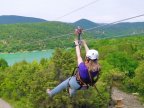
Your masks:
M87 20L87 19L81 19L81 20L74 22L73 25L74 26L80 26L83 29L88 29L88 28L99 26L100 24L94 23L94 22Z

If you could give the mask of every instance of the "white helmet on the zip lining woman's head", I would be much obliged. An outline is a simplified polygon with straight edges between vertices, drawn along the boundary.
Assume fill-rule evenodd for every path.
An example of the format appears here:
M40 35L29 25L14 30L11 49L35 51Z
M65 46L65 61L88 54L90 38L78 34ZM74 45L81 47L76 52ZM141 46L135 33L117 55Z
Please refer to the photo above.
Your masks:
M94 49L89 50L86 54L86 57L88 57L91 60L98 59L98 56L99 56L98 51Z

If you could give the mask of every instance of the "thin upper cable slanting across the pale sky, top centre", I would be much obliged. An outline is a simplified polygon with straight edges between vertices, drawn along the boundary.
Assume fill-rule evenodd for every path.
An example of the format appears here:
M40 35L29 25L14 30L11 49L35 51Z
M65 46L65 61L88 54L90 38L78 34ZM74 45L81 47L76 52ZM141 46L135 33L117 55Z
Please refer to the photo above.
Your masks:
M92 4L96 3L97 1L99 1L99 0L95 0L95 1L92 1L92 2L90 2L90 3L88 3L88 4L85 4L85 5L77 8L77 9L72 10L71 12L68 12L68 13L66 13L66 14L58 17L58 18L56 18L55 20L61 19L61 18L65 17L65 16L68 16L68 15L70 15L70 14L76 12L76 11L79 11L79 10L81 10L81 9L83 9L83 8L86 8L86 7L88 7L89 5L92 5Z

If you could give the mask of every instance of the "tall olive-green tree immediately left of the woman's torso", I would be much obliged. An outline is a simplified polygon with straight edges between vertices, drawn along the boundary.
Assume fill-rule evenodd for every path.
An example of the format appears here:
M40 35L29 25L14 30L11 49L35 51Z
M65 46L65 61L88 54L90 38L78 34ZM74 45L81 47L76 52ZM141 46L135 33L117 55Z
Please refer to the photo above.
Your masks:
M54 63L56 77L63 80L72 74L72 70L76 67L76 59L74 54L69 50L56 49L52 61Z

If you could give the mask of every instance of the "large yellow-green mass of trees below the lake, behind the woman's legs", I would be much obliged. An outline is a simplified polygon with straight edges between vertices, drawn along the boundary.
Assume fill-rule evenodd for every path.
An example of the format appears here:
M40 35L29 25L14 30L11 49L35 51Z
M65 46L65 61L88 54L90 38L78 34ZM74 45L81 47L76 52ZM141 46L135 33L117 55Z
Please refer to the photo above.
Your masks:
M94 88L78 91L72 98L66 91L54 96L52 100L48 98L46 88L54 88L62 80L71 76L74 66L76 66L74 52L63 49L57 49L51 60L42 59L40 63L36 61L16 63L8 67L3 75L0 96L13 100L15 108L18 106L21 108L105 107L109 95L104 83L99 84L101 95L106 100L104 103Z

